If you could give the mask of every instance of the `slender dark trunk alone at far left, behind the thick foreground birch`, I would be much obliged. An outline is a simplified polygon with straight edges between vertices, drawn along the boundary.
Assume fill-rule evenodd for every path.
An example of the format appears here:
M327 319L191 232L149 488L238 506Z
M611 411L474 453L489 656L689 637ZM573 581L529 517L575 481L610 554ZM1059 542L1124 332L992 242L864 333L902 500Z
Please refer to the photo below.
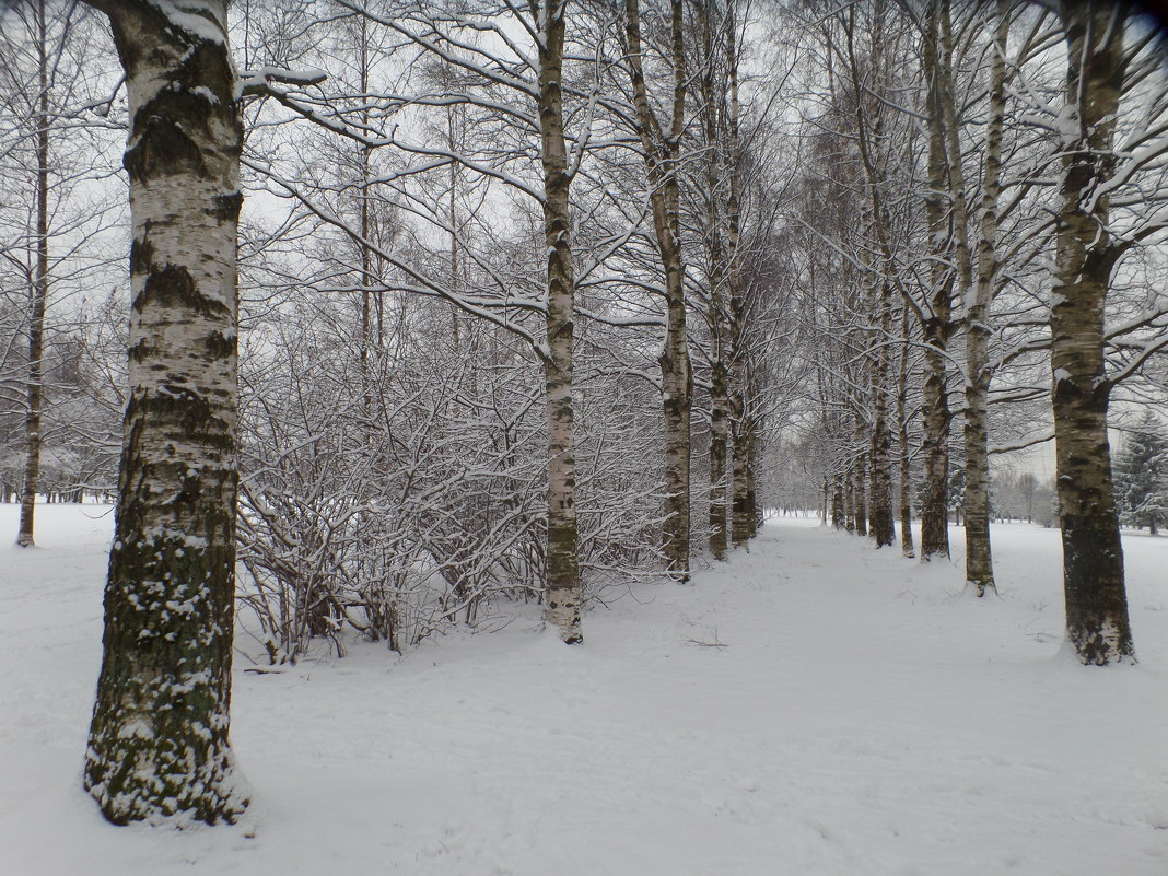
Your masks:
M36 274L28 322L28 383L25 392L25 488L20 499L16 544L33 545L33 519L41 477L41 408L44 394L44 314L49 304L49 58L44 0L36 21Z

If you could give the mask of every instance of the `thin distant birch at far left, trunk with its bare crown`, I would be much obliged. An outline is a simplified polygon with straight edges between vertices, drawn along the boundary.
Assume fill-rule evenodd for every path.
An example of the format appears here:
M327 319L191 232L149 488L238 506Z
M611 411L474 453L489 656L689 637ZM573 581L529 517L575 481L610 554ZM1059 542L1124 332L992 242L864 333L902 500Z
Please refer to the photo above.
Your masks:
M0 371L4 382L20 384L21 547L34 543L41 460L54 452L47 356L60 324L50 319L50 300L60 305L78 285L106 279L96 238L109 203L93 192L102 175L93 165L107 123L88 109L100 105L93 92L111 83L89 69L98 46L86 12L76 2L15 4L0 33L0 180L8 193L0 204L0 283L2 294L19 290L23 299L21 349L0 356Z

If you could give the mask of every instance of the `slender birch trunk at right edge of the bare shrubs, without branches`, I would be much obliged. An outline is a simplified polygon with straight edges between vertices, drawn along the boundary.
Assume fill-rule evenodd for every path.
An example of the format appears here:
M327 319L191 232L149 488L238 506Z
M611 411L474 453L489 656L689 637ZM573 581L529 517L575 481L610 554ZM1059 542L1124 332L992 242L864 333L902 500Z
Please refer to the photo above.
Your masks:
M545 0L540 48L540 128L543 160L543 230L548 250L548 600L544 618L569 645L580 631L579 535L576 524L576 449L572 409L572 263L568 148L561 78L565 0Z

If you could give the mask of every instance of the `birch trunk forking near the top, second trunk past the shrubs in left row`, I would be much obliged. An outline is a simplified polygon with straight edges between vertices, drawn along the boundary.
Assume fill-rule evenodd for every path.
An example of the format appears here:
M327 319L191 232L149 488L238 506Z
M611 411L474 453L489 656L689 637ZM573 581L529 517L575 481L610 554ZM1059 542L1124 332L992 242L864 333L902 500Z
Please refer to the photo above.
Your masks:
M681 253L679 161L684 132L686 56L682 0L670 0L670 55L673 62L672 119L666 130L649 105L641 61L641 13L638 0L625 2L625 35L633 88L637 128L645 154L649 204L658 252L665 270L666 332L659 362L665 409L665 523L662 551L666 568L679 582L689 580L689 475L690 410L694 380L686 332L684 269Z

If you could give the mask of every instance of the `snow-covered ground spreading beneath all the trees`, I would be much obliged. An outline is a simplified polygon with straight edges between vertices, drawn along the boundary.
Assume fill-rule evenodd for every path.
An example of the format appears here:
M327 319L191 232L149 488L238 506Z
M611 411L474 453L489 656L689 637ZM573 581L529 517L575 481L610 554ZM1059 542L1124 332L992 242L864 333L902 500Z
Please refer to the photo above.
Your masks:
M979 602L805 520L593 609L583 647L527 612L404 658L241 655L252 808L175 833L79 788L102 512L44 506L41 547L0 548L0 874L1168 874L1168 537L1125 537L1135 667L1061 651L1055 531L995 527Z

